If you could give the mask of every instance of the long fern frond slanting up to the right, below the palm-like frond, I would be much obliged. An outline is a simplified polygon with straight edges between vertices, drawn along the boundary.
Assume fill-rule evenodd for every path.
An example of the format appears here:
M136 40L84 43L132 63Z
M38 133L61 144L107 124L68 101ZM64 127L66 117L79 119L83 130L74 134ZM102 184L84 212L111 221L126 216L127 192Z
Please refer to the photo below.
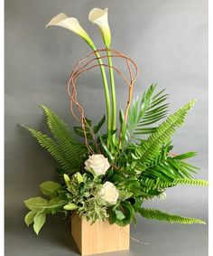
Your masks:
M181 109L178 109L168 119L156 128L156 130L134 152L135 168L143 171L160 154L163 144L171 140L171 135L180 128L185 121L187 112L192 108L195 101L192 100Z

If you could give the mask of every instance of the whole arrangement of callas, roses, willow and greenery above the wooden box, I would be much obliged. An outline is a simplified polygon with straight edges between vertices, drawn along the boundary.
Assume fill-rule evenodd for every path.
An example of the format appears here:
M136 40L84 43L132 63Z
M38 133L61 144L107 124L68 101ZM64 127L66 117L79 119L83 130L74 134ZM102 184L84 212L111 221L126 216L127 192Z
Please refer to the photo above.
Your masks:
M198 168L190 165L187 159L196 156L195 152L180 155L171 152L171 136L183 125L195 100L169 116L168 94L164 90L155 91L156 85L152 84L142 97L132 100L137 66L124 53L110 48L107 9L92 9L88 20L97 24L105 44L104 49L97 50L76 18L58 14L47 24L47 27L69 29L92 49L74 67L67 84L70 110L80 123L74 127L74 132L84 140L80 142L82 139L74 137L64 121L45 106L41 107L51 136L23 126L59 163L59 182L43 182L40 188L44 196L24 201L30 210L25 216L25 223L28 226L33 223L33 230L38 234L47 214L62 212L65 216L69 213L84 216L90 223L108 219L110 224L120 226L132 221L135 223L135 213L144 218L169 223L203 224L199 219L147 209L143 205L146 200L154 197L164 198L166 188L175 185L208 185L207 181L192 176ZM113 65L113 58L125 61L129 78ZM84 109L77 99L79 75L94 68L100 69L106 99L106 116L95 125L85 117ZM125 109L119 109L119 114L115 72L128 87L126 106ZM100 132L105 123L106 132Z

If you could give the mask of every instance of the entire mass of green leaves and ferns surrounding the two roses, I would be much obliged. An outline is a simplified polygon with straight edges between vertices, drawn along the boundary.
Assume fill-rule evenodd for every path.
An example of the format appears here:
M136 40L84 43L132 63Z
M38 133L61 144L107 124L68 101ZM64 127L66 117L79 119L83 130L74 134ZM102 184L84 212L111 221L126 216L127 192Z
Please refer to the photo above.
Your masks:
M144 201L154 196L161 197L165 189L171 186L208 185L208 181L192 177L198 168L187 161L196 156L195 152L181 155L171 153L171 136L184 123L194 101L156 126L167 115L168 104L165 100L168 95L164 90L154 94L155 87L152 85L145 91L141 100L133 101L127 123L124 111L120 110L121 129L113 141L107 139L106 134L99 133L106 121L105 116L95 126L86 119L89 146L96 154L106 156L110 163L106 175L94 175L92 170L88 172L84 169L84 162L88 159L87 147L79 144L66 124L51 109L42 106L51 137L32 128L27 129L59 162L59 174L63 175L64 180L61 184L46 181L40 185L42 194L48 199L36 196L24 201L30 210L24 222L28 226L33 223L34 232L38 234L41 231L47 214L62 212L67 215L70 211L85 216L90 223L108 218L109 223L120 226L135 222L134 213L170 223L204 223L198 219L142 207ZM74 131L84 137L81 127L75 127ZM116 130L111 131L111 135L115 134ZM142 137L144 135L146 137ZM119 193L116 204L107 203L99 194L106 181L116 185Z

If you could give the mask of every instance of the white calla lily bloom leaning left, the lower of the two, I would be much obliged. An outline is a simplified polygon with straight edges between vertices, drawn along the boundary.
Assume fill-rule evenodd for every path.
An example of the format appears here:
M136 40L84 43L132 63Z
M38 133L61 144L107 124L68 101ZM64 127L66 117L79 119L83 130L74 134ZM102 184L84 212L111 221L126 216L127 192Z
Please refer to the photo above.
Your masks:
M81 27L79 21L76 18L68 17L66 14L61 13L53 17L50 23L46 25L46 28L48 28L51 25L60 26L69 29L74 33L77 33L81 38L83 38L88 43L88 45L92 49L95 48L95 45L89 37L88 33Z

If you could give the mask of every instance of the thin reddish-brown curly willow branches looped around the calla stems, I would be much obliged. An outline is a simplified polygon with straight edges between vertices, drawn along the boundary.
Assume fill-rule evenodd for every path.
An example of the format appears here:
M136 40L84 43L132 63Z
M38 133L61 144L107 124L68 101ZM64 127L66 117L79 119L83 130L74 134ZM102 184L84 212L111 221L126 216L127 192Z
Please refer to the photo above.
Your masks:
M129 72L129 80L127 79L127 77L125 76L125 74L122 71L120 71L119 69L117 69L114 66L109 66L108 64L105 64L105 63L103 63L103 64L99 64L99 63L94 64L94 62L96 62L98 59L108 58L107 54L103 55L103 56L100 56L98 58L95 57L95 58L92 58L91 60L89 60L89 58L91 58L93 55L95 55L96 52L111 52L111 54L110 54L111 57L125 59L127 71ZM89 128L89 126L88 126L87 119L85 118L84 109L79 104L79 101L77 99L76 87L77 87L77 80L78 80L79 75L82 74L83 72L90 71L90 70L92 70L96 67L104 66L104 67L107 67L107 68L112 68L123 78L123 80L125 81L125 83L128 86L128 97L127 97L127 102L126 102L126 106L125 106L125 123L126 123L127 118L128 118L128 110L129 110L129 107L130 107L130 104L131 104L131 101L132 101L132 97L133 97L134 81L136 80L137 74L138 74L138 69L137 69L137 66L136 66L135 62L132 59L130 59L129 57L127 57L124 53L121 53L121 52L118 52L118 51L112 50L112 49L99 49L96 52L91 52L91 53L88 54L88 56L79 60L79 62L75 65L73 71L71 72L71 74L69 76L69 81L67 83L67 91L68 91L69 100L70 100L70 110L71 110L71 113L72 113L73 117L81 123L81 127L82 127L83 132L84 132L85 143L86 143L86 146L88 147L88 151L89 151L90 154L94 154L94 152L93 152L93 149L88 144L86 126L88 128ZM131 69L131 64L134 67L134 74L133 74L133 71ZM70 87L71 87L71 90L70 90ZM74 109L73 109L73 105L75 105L76 108L79 110L80 119L75 114ZM96 142L95 135L94 135L92 129L89 128L89 131L90 131L90 133L91 133L91 135L94 139L94 142L96 144L96 147L97 147L97 142Z

